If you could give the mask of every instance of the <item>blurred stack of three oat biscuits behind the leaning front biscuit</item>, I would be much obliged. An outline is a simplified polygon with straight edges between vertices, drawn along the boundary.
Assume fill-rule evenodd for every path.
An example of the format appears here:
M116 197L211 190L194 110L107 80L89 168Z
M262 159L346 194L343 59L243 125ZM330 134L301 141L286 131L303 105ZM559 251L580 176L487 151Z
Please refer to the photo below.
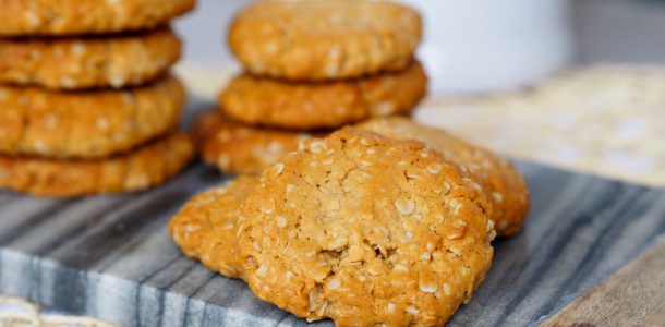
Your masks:
M229 45L244 65L195 128L205 161L258 173L312 135L409 114L427 78L414 10L388 1L263 1L238 14Z

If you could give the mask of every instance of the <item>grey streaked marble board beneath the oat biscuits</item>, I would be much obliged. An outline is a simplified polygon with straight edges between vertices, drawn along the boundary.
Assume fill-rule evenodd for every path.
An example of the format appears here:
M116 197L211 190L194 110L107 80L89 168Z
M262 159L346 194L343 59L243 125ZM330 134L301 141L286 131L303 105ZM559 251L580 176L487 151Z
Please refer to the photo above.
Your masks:
M532 193L527 227L494 242L486 281L451 326L537 325L665 234L665 191L517 165ZM228 178L195 165L133 195L0 193L0 293L124 326L306 325L171 242L169 218Z

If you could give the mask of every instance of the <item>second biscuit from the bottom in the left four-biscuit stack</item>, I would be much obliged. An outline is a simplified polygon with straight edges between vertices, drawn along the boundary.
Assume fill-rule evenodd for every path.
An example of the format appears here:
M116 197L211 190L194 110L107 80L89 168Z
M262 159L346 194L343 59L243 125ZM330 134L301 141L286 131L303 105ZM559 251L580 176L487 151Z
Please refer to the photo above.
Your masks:
M0 154L106 157L171 130L183 102L183 87L173 77L83 93L0 86Z

